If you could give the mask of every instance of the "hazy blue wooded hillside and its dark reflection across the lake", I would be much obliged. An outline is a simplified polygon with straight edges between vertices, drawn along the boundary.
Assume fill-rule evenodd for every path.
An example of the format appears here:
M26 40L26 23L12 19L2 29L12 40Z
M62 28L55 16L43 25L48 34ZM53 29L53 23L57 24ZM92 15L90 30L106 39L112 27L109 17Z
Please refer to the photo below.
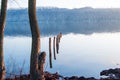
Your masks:
M120 31L120 9L37 9L42 35ZM27 9L8 10L5 35L30 35Z

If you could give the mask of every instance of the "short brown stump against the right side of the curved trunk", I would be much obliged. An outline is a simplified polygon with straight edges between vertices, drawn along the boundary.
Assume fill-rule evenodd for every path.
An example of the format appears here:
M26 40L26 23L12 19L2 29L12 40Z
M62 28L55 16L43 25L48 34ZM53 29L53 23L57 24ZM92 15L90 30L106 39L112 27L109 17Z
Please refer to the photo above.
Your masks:
M45 59L46 59L46 53L42 52L38 58L39 80L45 80L45 77L44 77Z

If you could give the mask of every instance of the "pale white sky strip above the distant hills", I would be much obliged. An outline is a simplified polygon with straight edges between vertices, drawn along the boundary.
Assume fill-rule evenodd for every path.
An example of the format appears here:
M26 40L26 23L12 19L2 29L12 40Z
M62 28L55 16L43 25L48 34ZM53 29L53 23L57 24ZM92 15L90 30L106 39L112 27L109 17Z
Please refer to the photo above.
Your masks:
M28 0L8 0L8 8L27 8ZM37 7L59 8L120 8L120 0L36 0Z

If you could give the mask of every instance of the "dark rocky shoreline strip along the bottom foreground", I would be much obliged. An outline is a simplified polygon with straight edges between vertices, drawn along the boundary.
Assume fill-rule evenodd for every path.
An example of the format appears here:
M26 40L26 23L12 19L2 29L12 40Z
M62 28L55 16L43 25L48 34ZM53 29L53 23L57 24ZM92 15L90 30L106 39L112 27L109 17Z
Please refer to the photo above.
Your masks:
M71 77L64 77L61 76L60 74L56 73L50 73L50 72L45 72L45 79L46 80L120 80L120 68L115 68L115 69L108 69L108 70L103 70L100 72L101 76L106 76L104 78L96 79L94 77L89 77L86 78L84 76L71 76ZM6 78L5 80L29 80L30 75L21 75L21 76L15 76L13 78Z

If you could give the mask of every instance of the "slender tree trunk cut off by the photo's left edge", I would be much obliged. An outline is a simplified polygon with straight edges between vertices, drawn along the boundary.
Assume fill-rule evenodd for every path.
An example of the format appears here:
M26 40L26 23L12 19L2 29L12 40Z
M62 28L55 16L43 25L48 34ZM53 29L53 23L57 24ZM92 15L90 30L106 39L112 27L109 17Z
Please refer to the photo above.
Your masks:
M5 22L6 22L7 2L8 2L7 0L1 0L1 10L0 10L0 80L4 80L4 78L5 78L3 41L4 41L4 28L5 28Z

